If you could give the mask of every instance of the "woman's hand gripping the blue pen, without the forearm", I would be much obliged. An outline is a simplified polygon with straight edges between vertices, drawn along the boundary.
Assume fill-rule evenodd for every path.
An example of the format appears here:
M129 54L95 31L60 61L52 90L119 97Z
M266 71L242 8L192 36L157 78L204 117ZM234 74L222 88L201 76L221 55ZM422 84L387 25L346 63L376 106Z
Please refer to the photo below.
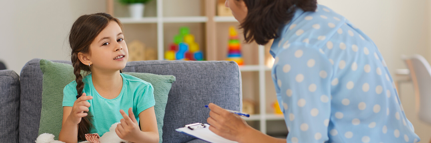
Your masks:
M252 129L240 116L230 113L214 103L209 103L209 118L206 121L211 125L209 130L228 140L240 142Z

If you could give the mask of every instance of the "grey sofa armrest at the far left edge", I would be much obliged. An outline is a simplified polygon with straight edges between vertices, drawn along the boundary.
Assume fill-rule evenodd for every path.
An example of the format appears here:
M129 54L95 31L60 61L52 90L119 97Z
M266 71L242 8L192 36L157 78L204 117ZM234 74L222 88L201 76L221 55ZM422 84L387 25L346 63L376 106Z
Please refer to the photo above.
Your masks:
M18 143L19 76L13 70L0 70L0 139Z

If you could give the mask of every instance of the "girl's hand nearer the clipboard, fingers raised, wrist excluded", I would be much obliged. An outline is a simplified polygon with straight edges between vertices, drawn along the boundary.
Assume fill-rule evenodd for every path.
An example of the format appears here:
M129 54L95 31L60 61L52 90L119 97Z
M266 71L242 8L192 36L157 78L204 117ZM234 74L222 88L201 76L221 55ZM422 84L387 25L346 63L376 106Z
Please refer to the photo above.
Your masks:
M132 108L129 108L129 116L123 111L120 110L123 119L120 120L120 124L115 128L115 132L118 137L123 140L135 142L134 139L137 139L141 130L139 129L139 124L137 123Z

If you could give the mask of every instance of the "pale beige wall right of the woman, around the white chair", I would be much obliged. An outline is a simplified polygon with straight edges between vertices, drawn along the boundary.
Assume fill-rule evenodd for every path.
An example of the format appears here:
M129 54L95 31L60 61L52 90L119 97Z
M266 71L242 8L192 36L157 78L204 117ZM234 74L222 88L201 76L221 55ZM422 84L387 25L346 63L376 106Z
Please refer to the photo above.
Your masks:
M378 46L394 79L394 70L406 68L400 55L421 54L431 59L431 2L429 0L318 0L344 15ZM400 85L407 118L421 143L428 143L431 125L420 121L415 110L413 86Z

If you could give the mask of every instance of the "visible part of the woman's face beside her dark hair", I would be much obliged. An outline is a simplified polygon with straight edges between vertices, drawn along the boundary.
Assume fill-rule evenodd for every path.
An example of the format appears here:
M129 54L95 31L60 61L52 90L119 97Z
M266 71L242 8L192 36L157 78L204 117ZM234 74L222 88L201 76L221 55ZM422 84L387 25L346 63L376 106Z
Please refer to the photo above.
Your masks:
M247 6L243 0L226 0L225 6L230 8L235 19L242 23L247 16Z

